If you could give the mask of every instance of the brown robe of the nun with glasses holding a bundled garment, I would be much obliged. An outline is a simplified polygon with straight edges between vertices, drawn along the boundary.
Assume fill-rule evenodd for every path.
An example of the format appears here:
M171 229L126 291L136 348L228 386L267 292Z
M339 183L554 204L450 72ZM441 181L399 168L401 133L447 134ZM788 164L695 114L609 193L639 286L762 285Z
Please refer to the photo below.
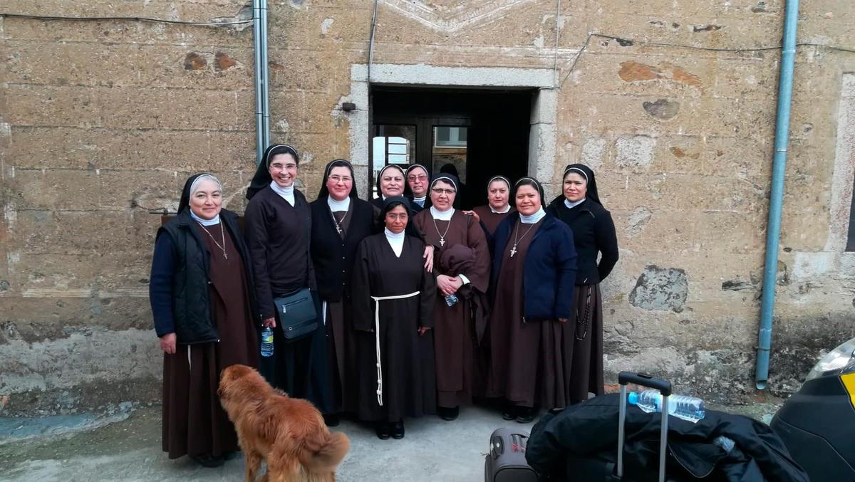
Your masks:
M463 274L471 283L467 290L458 291L459 301L451 307L445 303L445 296L438 287L433 306L437 403L439 407L454 408L471 403L477 385L475 326L470 302L464 293L471 289L486 293L490 279L490 251L481 226L459 210L451 216L451 221L436 220L434 224L430 209L425 209L416 215L413 222L422 232L425 242L434 246L433 274ZM441 234L444 234L444 243L440 243ZM467 273L442 273L439 257L455 244L464 244L475 250L475 264Z

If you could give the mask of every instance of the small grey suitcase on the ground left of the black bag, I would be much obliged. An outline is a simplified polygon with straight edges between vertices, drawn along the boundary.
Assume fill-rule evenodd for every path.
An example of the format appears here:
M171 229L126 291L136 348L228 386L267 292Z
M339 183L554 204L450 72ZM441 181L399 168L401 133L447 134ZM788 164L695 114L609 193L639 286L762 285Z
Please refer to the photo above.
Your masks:
M526 461L528 432L499 428L490 436L484 459L485 482L537 482L537 473Z

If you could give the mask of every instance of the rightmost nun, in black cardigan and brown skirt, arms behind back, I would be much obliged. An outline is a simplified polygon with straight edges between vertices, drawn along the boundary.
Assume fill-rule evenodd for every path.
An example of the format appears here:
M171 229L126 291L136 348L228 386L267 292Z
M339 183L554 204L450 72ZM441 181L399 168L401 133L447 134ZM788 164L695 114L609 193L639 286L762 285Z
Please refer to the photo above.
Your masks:
M579 253L575 311L569 321L575 329L571 398L576 403L587 400L588 392L601 395L604 390L599 284L615 267L618 250L615 223L599 200L593 170L584 164L570 164L564 169L562 188L562 195L547 210L573 230Z

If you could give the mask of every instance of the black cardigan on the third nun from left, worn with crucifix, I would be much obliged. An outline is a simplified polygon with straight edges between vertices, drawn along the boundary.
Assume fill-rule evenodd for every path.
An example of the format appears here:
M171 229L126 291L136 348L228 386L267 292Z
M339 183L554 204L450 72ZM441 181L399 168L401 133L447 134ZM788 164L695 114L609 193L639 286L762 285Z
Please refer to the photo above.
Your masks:
M311 254L315 265L318 293L325 301L350 297L351 271L357 248L374 232L374 207L362 199L351 198L351 220L345 238L333 225L327 197L310 203L312 212Z

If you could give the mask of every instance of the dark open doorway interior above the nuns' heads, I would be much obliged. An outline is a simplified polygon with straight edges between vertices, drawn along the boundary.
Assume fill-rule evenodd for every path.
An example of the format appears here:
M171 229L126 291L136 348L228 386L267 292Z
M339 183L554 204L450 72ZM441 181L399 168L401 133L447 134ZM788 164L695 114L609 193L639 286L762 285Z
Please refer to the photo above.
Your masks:
M452 164L469 208L486 203L492 176L528 173L532 91L374 87L371 97L372 183L385 164L422 164L432 175Z

